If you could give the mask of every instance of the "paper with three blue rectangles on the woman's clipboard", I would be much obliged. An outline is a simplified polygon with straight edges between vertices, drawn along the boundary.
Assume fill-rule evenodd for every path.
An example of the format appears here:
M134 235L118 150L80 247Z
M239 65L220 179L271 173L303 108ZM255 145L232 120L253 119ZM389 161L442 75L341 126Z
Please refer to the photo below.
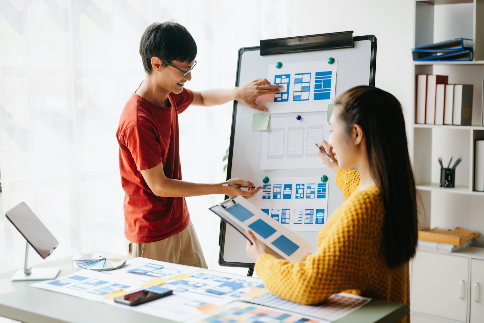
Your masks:
M281 225L242 196L231 197L210 208L229 225L247 238L245 230L251 230L279 258L291 262L304 260L313 246L296 233Z

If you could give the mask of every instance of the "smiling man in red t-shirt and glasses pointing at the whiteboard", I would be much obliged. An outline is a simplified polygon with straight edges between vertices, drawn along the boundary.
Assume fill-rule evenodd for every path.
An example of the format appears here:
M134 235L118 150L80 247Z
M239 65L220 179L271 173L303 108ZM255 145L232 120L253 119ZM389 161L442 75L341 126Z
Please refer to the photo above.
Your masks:
M184 88L197 64L197 44L173 21L151 24L141 37L139 53L146 78L124 106L116 132L127 253L207 268L184 197L226 194L248 198L258 189L244 191L224 187L224 183L181 180L178 114L190 104L212 106L232 100L266 111L257 105L257 97L279 90L266 79L225 90L192 92ZM238 178L225 183L254 185Z

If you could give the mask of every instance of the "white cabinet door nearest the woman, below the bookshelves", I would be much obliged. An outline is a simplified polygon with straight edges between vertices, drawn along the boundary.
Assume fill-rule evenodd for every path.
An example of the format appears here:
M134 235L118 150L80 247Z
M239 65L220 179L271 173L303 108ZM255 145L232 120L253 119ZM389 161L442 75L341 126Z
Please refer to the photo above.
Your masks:
M410 310L467 321L469 258L417 251L412 259Z

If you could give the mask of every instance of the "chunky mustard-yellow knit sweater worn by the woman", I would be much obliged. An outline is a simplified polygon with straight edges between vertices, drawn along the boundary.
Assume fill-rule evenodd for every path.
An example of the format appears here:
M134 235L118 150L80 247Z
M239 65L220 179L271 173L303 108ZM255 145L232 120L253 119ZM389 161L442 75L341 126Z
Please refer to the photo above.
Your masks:
M305 262L271 255L257 259L255 270L278 297L316 304L338 292L350 292L407 305L410 322L408 262L390 268L382 249L383 201L376 185L360 191L360 173L338 170L336 185L346 201L318 234L318 250Z

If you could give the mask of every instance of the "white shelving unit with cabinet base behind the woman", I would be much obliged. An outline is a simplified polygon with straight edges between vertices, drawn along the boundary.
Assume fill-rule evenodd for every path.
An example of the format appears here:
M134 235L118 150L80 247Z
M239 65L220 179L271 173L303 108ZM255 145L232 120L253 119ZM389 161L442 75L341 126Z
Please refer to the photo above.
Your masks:
M410 154L418 193L422 198L419 205L419 229L460 226L477 230L482 235L473 247L457 253L433 256L429 252L417 251L417 257L411 263L414 270L411 272L410 291L412 322L417 323L484 322L475 319L477 313L483 313L484 288L479 303L473 300L475 291L471 293L473 287L470 285L470 277L477 277L475 268L483 268L484 264L484 192L473 191L474 141L484 139L481 105L484 79L484 0L415 0L415 46L457 37L474 40L474 61L413 64L414 89L416 75L419 74L448 75L450 84L474 84L472 126L415 124L415 108L412 109L408 123L412 124L410 142L413 149ZM442 157L444 167L451 156L454 157L453 162L462 156L462 162L456 168L454 188L439 186L439 156ZM432 260L432 257L437 257L435 260L438 261ZM468 257L469 262L461 257ZM459 259L466 265L458 265L456 260ZM444 268L447 265L442 267L437 262L452 264L454 269ZM452 270L462 273L457 277L451 274L454 273ZM424 282L435 284L434 291L429 291L427 286L428 291L422 295ZM484 281L481 285L484 287ZM464 286L462 288L465 291L460 290L461 286ZM416 304L413 307L412 302Z

